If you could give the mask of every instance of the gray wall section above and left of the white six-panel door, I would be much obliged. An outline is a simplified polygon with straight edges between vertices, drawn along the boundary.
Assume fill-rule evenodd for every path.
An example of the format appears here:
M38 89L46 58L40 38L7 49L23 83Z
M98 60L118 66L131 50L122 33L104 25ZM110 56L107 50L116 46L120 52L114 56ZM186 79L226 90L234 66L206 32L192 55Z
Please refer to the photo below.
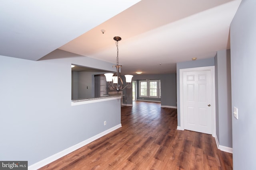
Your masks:
M196 67L204 67L204 66L214 66L214 58L177 63L176 69L177 69L177 118L178 118L178 126L180 126L180 69L182 69L182 68L196 68Z

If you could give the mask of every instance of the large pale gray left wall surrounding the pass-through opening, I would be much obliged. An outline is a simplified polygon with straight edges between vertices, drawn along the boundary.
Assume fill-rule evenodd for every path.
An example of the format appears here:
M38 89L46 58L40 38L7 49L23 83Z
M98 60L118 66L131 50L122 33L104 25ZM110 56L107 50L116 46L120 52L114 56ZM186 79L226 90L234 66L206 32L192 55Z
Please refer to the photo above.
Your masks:
M71 63L110 71L113 63L61 50L0 63L0 160L31 165L121 123L120 100L71 106Z

